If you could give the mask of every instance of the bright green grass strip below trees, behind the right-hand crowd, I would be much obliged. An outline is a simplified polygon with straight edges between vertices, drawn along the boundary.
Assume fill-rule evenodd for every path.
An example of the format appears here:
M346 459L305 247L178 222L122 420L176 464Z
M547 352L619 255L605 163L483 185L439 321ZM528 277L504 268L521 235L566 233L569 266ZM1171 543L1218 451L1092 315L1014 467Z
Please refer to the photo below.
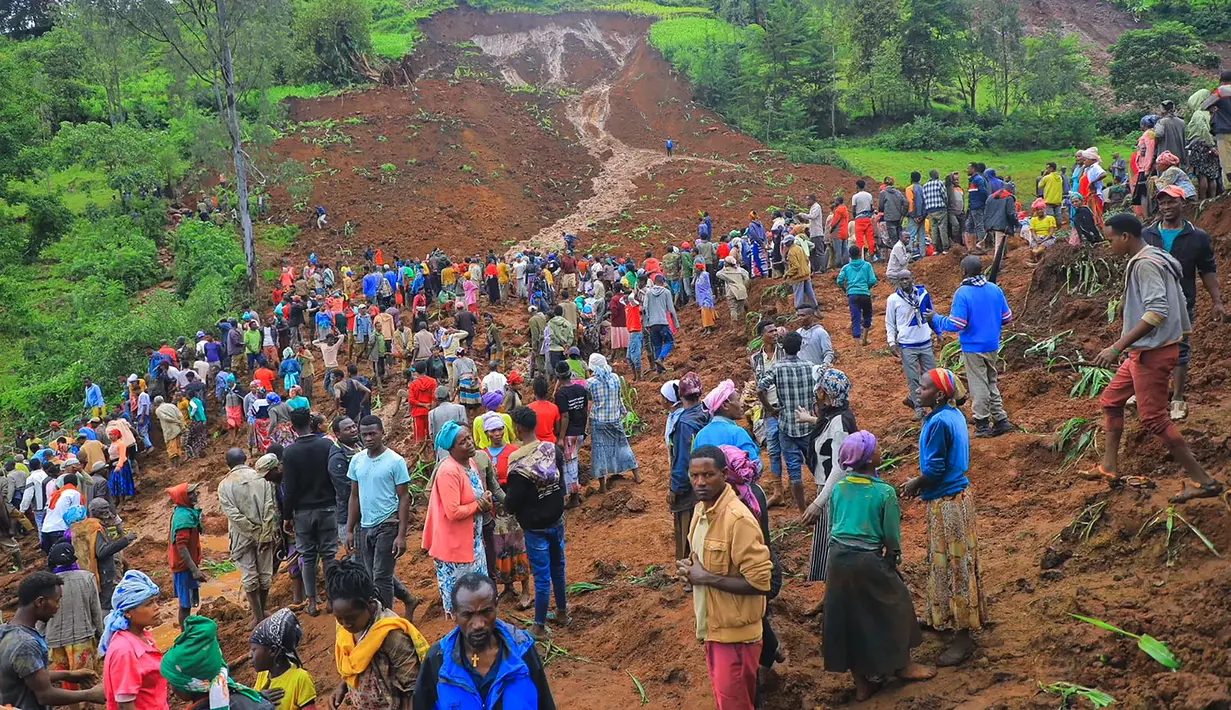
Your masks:
M1133 151L1133 145L1126 142L1118 143L1103 139L1098 142L1098 150L1103 156L1103 164L1110 166L1113 153L1118 151L1126 159ZM1049 161L1055 161L1057 165L1072 165L1073 158L1073 149L1070 148L969 153L963 150L902 151L862 145L840 145L837 153L851 161L857 172L875 180L891 175L899 185L908 185L913 170L922 172L923 180L927 180L927 174L933 167L939 170L942 175L954 170L965 175L966 165L974 161L986 162L987 167L996 169L997 175L1012 176L1020 183L1028 177L1043 172Z

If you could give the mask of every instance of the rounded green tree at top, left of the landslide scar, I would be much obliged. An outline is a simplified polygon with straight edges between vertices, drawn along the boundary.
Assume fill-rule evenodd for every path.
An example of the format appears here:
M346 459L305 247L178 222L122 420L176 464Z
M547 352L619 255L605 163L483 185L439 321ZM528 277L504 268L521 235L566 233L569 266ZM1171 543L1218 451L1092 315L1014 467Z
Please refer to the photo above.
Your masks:
M345 86L371 68L372 6L367 0L308 0L295 9L295 75Z

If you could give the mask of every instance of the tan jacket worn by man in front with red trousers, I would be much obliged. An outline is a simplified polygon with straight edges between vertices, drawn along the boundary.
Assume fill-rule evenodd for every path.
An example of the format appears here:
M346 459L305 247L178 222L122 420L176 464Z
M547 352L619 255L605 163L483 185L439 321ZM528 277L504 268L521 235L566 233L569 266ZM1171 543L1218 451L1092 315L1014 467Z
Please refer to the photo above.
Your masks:
M709 521L705 546L698 559L715 575L740 575L763 592L769 591L773 562L769 548L761 535L761 524L735 492L726 486L713 508L697 503L689 538L702 516ZM719 644L750 644L761 639L761 618L766 613L766 597L731 594L714 587L694 587L693 594L705 594L705 640Z

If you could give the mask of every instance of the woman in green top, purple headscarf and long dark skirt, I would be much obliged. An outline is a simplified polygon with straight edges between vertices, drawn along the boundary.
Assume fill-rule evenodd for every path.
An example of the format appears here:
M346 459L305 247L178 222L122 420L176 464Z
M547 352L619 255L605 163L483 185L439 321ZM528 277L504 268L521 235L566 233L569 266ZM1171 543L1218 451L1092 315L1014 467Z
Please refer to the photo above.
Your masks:
M836 457L849 473L830 498L832 536L825 586L825 669L849 672L856 700L880 689L875 677L927 680L936 668L911 661L923 636L906 583L897 575L901 559L901 512L897 491L876 475L876 437L856 432Z

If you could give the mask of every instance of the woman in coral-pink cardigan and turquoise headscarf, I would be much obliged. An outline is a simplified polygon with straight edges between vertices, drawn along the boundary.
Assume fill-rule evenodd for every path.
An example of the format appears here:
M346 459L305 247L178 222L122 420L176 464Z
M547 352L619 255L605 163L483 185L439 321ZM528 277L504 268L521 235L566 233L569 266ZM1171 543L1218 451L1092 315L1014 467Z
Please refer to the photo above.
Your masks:
M453 584L467 572L487 573L480 513L491 509L491 492L474 464L474 437L457 422L446 422L436 445L449 453L441 461L427 501L423 549L436 561L444 614L453 618Z

